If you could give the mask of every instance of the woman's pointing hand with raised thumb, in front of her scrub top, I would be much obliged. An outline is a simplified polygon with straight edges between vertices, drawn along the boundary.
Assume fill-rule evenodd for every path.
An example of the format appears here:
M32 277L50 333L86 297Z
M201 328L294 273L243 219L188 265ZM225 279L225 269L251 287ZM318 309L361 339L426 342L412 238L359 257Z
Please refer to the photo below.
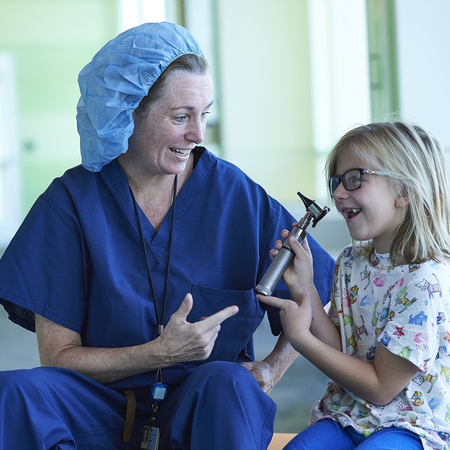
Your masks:
M220 324L239 311L237 306L229 306L200 322L190 323L187 316L192 305L191 294L186 294L156 340L162 355L167 355L171 364L207 359L213 351Z

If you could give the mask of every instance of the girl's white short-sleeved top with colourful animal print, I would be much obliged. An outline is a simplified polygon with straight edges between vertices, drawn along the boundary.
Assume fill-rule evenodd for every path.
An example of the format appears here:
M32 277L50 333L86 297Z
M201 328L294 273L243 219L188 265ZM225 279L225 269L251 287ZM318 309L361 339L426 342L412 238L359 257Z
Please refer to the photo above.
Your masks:
M392 268L389 254L355 256L351 246L337 260L329 316L340 327L348 355L372 362L379 344L418 367L388 405L373 405L329 383L313 405L311 423L333 418L363 436L383 427L405 428L423 448L450 442L450 264L427 261Z

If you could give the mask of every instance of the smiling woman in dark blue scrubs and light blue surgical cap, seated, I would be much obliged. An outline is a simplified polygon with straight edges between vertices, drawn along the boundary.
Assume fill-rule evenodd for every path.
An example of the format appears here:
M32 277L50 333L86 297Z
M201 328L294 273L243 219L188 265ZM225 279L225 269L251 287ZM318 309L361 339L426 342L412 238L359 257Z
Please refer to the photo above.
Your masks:
M0 303L42 364L0 372L0 449L266 449L297 353L268 309L279 341L254 361L253 287L294 217L198 146L213 84L184 28L120 34L79 84L82 165L0 260ZM334 261L309 243L327 302Z

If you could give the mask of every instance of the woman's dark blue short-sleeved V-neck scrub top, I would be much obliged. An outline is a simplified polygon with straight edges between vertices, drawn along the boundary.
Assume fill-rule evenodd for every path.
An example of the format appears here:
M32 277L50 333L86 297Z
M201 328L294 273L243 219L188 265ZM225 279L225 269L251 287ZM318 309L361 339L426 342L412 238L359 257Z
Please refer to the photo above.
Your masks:
M165 323L188 292L189 322L228 305L239 313L222 323L208 361L254 358L252 334L263 318L254 287L270 265L269 250L295 218L244 172L203 147L176 199ZM171 211L156 232L139 209L147 257L162 313ZM334 261L309 237L315 283L329 301ZM122 347L157 337L137 217L119 162L99 172L82 166L56 178L41 195L0 260L0 303L10 319L34 331L34 313L80 333L83 346ZM281 281L274 295L289 298ZM274 334L278 309L268 307ZM204 362L177 364L170 373ZM111 383L148 386L154 372Z

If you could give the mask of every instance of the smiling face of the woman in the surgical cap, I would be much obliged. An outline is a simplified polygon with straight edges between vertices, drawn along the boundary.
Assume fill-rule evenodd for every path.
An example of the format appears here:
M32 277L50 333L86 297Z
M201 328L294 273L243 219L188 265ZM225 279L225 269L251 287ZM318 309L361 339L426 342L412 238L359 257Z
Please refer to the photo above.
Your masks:
M121 157L147 176L180 174L193 147L203 141L212 96L211 75L169 74L162 95L135 117L128 151Z

